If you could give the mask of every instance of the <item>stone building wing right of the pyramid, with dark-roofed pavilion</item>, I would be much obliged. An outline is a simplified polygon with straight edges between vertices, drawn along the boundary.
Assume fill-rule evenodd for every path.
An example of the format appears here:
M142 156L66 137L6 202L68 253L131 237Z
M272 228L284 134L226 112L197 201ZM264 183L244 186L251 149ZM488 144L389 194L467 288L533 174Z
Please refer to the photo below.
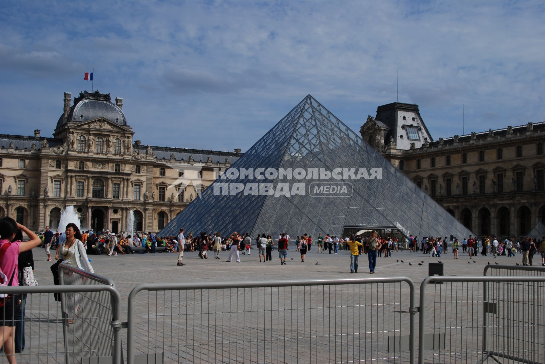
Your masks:
M410 110L413 115L407 115ZM420 122L414 122L411 135L409 117ZM418 106L392 103L378 107L360 133L478 236L523 237L545 222L545 122L434 141ZM388 143L396 138L398 143Z

